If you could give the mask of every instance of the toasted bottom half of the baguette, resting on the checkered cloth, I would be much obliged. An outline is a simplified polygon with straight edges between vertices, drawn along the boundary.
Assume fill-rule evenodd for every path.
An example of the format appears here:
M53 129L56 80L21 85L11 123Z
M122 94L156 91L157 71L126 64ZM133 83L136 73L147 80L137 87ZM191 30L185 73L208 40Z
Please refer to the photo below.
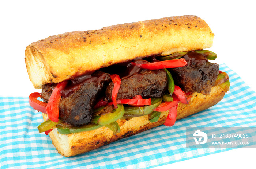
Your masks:
M191 95L192 98L189 104L179 103L177 120L217 104L224 97L225 91L219 86L214 86L211 89L210 95L203 95L201 93L192 93ZM60 134L57 129L53 129L53 131L49 133L49 136L52 139L53 145L61 155L67 157L75 156L97 149L121 138L162 125L167 118L168 112L169 111L161 112L159 120L154 123L148 121L148 115L134 117L128 121L118 120L117 123L120 125L121 131L116 135L113 135L110 129L103 126L93 131L72 134ZM44 113L43 118L44 121L47 119L47 115Z

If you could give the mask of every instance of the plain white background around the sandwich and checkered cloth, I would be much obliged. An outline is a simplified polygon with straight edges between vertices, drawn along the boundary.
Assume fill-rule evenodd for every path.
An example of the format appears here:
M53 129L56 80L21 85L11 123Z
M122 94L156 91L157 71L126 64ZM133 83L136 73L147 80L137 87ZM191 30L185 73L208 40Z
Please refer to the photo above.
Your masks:
M254 91L256 21L253 1L1 1L0 95L28 96L33 88L24 62L32 42L76 30L177 15L197 15L215 34L215 62L234 70ZM160 168L255 166L256 149L240 148Z

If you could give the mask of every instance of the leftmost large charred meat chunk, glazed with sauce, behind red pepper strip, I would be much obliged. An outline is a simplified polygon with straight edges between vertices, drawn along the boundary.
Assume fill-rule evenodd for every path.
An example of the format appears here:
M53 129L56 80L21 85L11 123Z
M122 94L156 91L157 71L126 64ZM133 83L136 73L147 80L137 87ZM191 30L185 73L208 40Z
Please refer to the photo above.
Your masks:
M95 72L71 80L67 87L61 91L59 118L74 126L90 123L93 118L95 101L110 80L104 72ZM41 97L45 102L49 101L55 86L56 84L46 84L42 87Z

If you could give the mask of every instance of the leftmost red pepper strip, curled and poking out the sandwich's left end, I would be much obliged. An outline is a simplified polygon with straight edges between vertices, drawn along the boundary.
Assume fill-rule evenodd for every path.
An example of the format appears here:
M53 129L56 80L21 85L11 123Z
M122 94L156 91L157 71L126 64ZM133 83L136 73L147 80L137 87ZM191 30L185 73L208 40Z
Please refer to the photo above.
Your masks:
M29 104L33 109L46 113L47 103L37 100L41 96L41 93L34 92L29 95Z

